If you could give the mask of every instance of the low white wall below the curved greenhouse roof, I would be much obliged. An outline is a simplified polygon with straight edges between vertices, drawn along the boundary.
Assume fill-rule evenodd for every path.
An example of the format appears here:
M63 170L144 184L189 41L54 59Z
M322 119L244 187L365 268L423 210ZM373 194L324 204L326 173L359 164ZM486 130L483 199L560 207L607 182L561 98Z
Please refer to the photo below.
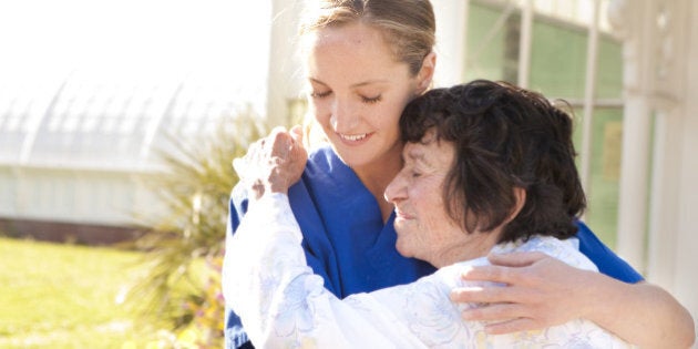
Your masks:
M0 166L0 217L124 226L157 202L145 174Z

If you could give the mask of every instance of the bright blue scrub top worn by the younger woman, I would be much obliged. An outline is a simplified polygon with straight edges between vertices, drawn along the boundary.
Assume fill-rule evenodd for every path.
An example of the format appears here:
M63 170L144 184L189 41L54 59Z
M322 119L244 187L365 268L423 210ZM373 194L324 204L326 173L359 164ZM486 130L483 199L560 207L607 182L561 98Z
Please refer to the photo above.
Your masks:
M294 215L304 235L308 265L339 298L407 284L435 270L396 250L394 214L383 224L378 203L359 177L329 147L312 152L301 179L289 188ZM247 211L246 193L230 198L228 236ZM626 283L643 277L578 222L579 250L599 270ZM226 348L239 348L247 336L234 311L226 311Z

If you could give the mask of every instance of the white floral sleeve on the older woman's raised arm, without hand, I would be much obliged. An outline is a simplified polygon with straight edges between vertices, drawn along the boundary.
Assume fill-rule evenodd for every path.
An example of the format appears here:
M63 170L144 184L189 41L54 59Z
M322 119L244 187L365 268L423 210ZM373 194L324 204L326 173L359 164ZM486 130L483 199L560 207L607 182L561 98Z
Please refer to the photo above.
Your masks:
M420 348L370 294L342 301L307 266L288 197L250 205L226 243L225 299L258 348Z

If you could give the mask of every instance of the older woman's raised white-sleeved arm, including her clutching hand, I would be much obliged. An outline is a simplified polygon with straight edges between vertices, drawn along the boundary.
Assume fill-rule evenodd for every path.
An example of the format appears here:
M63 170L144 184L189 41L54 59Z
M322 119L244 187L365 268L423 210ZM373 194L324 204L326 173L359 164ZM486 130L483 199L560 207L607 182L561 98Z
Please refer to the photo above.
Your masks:
M415 347L415 339L400 332L404 329L371 297L346 304L308 267L286 195L306 162L298 137L273 132L235 162L250 199L226 242L226 304L258 347Z

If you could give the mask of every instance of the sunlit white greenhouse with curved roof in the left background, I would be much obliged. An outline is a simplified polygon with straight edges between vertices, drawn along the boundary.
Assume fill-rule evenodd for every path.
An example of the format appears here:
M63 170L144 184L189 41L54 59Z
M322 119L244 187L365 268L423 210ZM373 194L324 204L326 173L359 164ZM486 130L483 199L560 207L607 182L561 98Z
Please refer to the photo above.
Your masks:
M16 17L0 28L23 33L8 37L18 54L0 66L0 223L7 234L24 233L28 223L97 227L90 232L129 226L134 212L157 206L141 179L158 170L158 153L171 152L172 140L193 142L237 115L264 115L266 68L245 66L253 58L236 59L226 42L268 8L239 20L242 13L226 14L233 6L226 1L183 2L153 31L130 4L90 9L92 18L71 4L89 6L57 4L64 18L42 23L55 24L53 32L19 22L22 14L40 20L22 3L7 9ZM132 21L129 30L112 32L121 18ZM75 28L59 23L68 19ZM179 37L171 42L172 35ZM93 43L83 47L83 40ZM249 45L255 60L266 55L266 47ZM48 59L48 50L61 53Z

